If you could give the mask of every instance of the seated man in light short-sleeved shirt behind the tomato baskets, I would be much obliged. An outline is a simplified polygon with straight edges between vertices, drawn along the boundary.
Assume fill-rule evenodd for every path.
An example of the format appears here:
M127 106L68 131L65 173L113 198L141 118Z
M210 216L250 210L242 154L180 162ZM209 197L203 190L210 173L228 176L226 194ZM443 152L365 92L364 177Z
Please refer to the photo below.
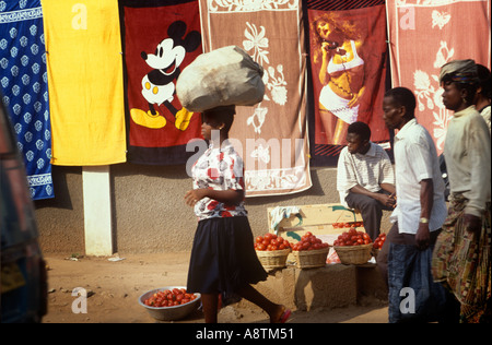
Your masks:
M337 190L342 205L361 212L365 231L374 241L379 235L383 210L393 211L396 198L388 154L370 139L366 123L349 126L348 145L338 158Z

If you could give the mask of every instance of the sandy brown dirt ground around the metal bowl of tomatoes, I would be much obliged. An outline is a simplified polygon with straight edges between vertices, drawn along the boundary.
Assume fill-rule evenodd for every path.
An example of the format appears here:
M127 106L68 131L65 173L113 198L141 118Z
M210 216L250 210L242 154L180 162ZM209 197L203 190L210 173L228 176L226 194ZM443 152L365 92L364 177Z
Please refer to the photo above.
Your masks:
M185 286L189 252L115 254L110 258L74 258L45 254L48 265L48 313L43 323L156 323L138 304L147 290ZM87 293L84 305L75 288ZM278 301L281 302L281 301ZM80 312L74 312L74 311ZM291 323L387 323L388 309L380 300L336 309L293 310ZM196 310L179 323L202 323ZM267 323L261 309L233 305L219 313L220 323Z

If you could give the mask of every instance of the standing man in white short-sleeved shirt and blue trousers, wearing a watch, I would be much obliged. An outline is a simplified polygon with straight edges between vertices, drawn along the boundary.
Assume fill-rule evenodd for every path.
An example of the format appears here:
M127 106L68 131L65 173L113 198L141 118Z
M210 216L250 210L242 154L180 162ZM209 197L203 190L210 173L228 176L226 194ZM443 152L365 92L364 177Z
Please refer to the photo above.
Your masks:
M405 261L397 255L405 253L408 248L413 251L414 255L429 247L432 248L447 215L444 200L445 186L434 141L425 128L417 122L414 108L415 97L410 90L405 87L395 87L388 91L383 100L384 120L387 128L398 130L394 143L398 203L390 216L394 226L377 257L379 269L389 277L390 322L400 321L398 319L400 306L395 306L395 301L401 296L400 290L391 289L405 281L405 277L411 273L409 270L420 269L408 265L401 270L396 263L403 262L405 264ZM418 248L418 250L411 248ZM432 255L422 260L426 260L425 266L429 269L429 272L422 274L430 277ZM430 281L432 282L432 278ZM437 283L433 284L432 288L440 288ZM391 296L396 296L396 298ZM396 321L391 320L395 316Z

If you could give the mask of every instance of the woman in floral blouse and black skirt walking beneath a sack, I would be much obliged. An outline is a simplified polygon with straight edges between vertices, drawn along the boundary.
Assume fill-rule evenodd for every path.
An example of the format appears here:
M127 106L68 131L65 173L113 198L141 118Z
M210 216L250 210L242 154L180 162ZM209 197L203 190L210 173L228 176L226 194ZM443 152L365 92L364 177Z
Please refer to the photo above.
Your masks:
M234 114L234 106L203 111L202 134L210 146L194 165L194 189L185 194L199 218L187 289L202 295L207 323L218 322L219 296L224 304L244 297L263 309L270 322L283 323L291 311L250 285L266 281L267 272L255 252L244 207L243 159L229 141Z

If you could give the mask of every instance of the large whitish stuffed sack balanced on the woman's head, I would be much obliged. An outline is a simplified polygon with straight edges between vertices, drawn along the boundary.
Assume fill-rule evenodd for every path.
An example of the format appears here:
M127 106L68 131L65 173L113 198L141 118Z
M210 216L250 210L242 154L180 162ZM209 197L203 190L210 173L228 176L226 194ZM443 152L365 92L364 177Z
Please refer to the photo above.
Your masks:
M236 46L199 55L176 82L183 107L203 111L218 106L254 106L263 99L263 69Z

